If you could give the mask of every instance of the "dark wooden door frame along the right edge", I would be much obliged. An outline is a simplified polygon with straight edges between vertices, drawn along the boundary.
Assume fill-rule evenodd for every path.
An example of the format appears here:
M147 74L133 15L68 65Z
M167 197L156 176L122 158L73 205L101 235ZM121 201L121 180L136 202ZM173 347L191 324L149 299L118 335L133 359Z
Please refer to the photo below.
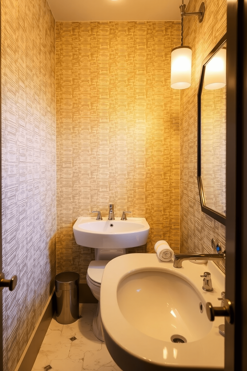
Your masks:
M246 3L227 2L226 298L233 302L235 319L233 325L226 322L225 371L247 370Z

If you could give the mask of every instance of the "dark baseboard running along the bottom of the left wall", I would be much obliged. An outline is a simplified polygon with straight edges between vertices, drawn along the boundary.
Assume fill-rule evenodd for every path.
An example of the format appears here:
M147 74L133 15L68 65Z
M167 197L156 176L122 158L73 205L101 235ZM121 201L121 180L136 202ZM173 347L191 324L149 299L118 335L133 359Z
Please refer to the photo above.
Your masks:
M56 296L55 296L55 288L53 289L46 306L44 307L43 312L35 326L33 333L27 343L26 348L21 356L20 361L18 362L14 371L31 371L33 368L33 364L37 358L39 353L41 344L44 340L46 332L49 328L51 319L54 315L55 308L56 308Z

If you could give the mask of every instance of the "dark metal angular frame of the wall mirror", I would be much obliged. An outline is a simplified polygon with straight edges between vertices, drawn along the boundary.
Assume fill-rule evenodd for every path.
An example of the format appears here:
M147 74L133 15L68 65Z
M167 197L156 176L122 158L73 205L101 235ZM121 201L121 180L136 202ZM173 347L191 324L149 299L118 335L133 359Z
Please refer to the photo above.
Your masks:
M206 206L205 196L203 191L203 183L201 180L201 93L203 90L203 81L204 81L204 74L206 64L213 58L213 56L220 50L223 45L226 43L227 34L221 37L220 41L217 45L211 50L211 52L207 55L207 57L203 60L201 64L201 75L200 75L200 82L198 87L198 94L197 94L197 182L200 194L200 203L201 203L201 211L203 213L211 216L213 219L219 221L221 224L226 225L226 216L218 213L216 210L210 209L210 207Z

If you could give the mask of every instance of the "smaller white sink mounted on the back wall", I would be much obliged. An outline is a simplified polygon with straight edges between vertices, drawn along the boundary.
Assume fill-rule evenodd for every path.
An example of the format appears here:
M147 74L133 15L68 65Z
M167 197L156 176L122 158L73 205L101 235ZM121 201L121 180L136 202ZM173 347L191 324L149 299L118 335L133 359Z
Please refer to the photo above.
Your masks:
M147 242L149 225L145 218L128 220L95 220L79 217L73 226L76 243L80 246L98 249L127 249Z

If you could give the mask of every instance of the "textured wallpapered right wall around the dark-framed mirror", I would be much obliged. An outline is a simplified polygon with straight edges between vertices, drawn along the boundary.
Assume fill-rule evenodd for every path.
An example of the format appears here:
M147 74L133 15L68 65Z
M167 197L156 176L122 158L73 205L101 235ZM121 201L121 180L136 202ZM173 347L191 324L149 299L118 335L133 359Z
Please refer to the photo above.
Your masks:
M226 0L205 0L202 23L184 20L184 45L192 48L191 87L180 95L180 249L213 252L211 239L225 247L225 227L202 213L197 185L197 91L201 62L226 32ZM195 12L200 1L190 0L186 11ZM221 265L224 270L224 266Z

